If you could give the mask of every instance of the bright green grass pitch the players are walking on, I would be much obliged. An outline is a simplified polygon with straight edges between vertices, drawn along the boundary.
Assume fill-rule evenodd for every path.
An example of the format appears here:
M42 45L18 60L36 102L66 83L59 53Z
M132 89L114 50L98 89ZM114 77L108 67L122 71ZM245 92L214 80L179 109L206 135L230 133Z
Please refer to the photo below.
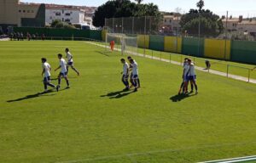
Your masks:
M39 94L40 59L55 69L56 54L67 47L81 76L70 71L70 89ZM0 57L0 162L183 163L256 155L253 84L198 71L199 94L181 97L180 66L136 57L142 88L121 93L120 54L86 42L0 42Z

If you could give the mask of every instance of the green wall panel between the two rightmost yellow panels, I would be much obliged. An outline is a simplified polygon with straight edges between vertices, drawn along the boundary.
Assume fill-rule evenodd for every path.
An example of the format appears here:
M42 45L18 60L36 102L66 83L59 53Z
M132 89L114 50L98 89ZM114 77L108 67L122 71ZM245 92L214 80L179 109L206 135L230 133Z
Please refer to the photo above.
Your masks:
M200 46L198 48L198 46ZM204 56L204 39L197 37L183 37L182 53L196 57Z

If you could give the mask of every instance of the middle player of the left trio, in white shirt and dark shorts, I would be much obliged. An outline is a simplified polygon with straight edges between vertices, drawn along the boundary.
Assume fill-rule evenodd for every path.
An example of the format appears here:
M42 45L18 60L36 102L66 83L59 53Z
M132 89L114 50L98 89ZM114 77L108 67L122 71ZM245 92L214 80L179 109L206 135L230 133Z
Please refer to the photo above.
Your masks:
M58 86L56 87L57 91L59 91L59 89L61 87L61 77L65 78L65 80L67 82L67 88L69 88L69 82L67 79L67 62L65 61L65 59L62 59L61 53L58 54L58 59L60 59L60 66L58 68L56 68L55 71L61 69L61 72L58 76Z

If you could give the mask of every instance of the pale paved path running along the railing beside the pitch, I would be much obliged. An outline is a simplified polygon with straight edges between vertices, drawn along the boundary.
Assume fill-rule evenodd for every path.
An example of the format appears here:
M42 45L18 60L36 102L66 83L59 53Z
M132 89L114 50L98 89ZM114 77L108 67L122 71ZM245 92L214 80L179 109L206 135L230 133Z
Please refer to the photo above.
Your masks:
M94 43L94 42L86 42L86 43L90 43L90 44L96 45L96 46L98 46L98 47L106 48L105 45L101 45L101 44L98 44L98 43ZM115 50L120 51L119 48L115 48ZM128 53L130 53L130 54L132 54L132 55L137 55L137 56L140 56L140 57L145 57L145 58L148 58L148 59L155 59L155 60L160 60L160 61L163 61L163 62L168 62L168 63L170 63L170 60L169 60L169 59L161 59L161 58L159 58L159 57L152 57L152 56L150 56L150 55L144 55L144 54L142 54L142 53L132 53L132 52L128 52ZM173 65L181 65L180 62L173 61L173 60L171 60L171 63L172 63ZM203 71L203 72L208 72L208 70L204 70L203 67L199 67L199 66L195 66L195 69L196 69L196 70L201 70L201 71ZM214 75L218 75L218 76L224 76L224 77L227 76L226 73L221 72L221 71L218 71L218 70L209 70L209 73L214 74ZM244 76L236 76L236 75L229 74L229 78L235 79L235 80L237 80L237 81L248 82L248 78L247 78L247 77L244 77ZM250 82L253 83L253 84L256 84L256 80L255 80L255 79L250 79Z

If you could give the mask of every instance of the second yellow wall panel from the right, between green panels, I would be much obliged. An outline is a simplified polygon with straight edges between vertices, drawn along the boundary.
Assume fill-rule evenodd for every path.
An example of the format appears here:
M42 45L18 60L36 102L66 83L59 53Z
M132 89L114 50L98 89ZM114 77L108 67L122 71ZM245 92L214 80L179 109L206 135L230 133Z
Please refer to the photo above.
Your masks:
M165 51L172 53L182 52L182 38L181 37L165 37Z

